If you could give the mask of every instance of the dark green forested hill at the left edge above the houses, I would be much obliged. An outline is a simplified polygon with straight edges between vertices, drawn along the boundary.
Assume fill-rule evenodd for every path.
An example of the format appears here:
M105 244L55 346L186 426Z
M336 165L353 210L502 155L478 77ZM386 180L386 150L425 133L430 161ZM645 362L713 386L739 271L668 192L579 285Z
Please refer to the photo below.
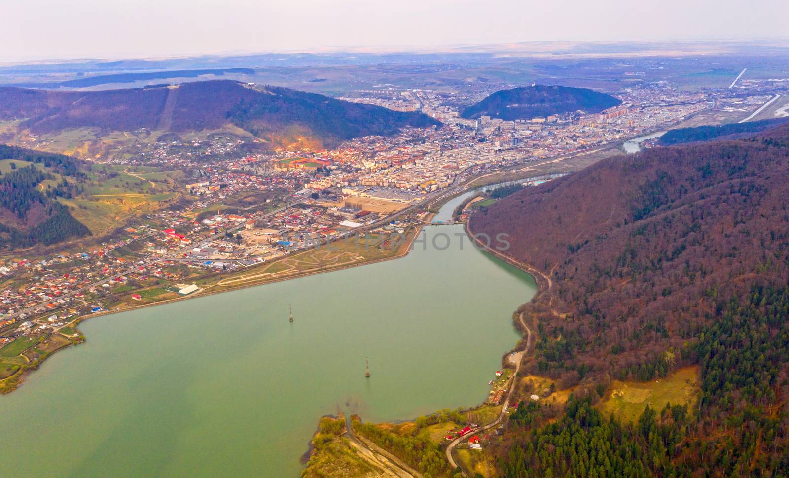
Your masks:
M0 249L54 245L90 234L54 199L73 193L74 184L65 177L84 177L76 160L6 145L0 145L0 159L28 164L17 167L17 162L8 162L6 170L0 170ZM46 188L42 187L44 181L49 183Z

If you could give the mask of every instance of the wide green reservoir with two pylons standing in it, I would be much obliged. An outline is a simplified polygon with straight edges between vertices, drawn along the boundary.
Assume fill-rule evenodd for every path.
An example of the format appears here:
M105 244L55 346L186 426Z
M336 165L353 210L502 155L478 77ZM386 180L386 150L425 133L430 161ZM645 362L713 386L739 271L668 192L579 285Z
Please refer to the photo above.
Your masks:
M462 233L428 226L402 259L88 320L86 343L0 396L0 476L298 476L320 416L484 401L536 286Z

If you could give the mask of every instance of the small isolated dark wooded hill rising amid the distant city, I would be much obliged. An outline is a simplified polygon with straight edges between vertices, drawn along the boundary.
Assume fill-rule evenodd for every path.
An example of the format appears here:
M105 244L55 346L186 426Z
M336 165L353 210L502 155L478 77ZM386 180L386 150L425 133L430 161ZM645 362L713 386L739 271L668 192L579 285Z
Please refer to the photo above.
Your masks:
M588 88L538 84L525 88L496 91L479 103L463 110L461 116L463 118L490 116L505 121L514 121L551 114L571 113L576 110L597 113L620 104L622 104L622 100Z

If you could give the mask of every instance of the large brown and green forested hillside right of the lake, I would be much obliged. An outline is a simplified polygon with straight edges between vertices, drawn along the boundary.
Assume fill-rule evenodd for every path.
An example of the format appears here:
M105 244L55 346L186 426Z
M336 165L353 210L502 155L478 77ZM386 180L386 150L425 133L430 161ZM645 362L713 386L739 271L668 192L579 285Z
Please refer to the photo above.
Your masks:
M529 372L585 397L510 443L504 476L593 476L590 463L594 476L789 476L787 177L781 126L605 159L473 215L473 233L510 233L507 255L551 278L525 307ZM695 410L629 428L589 407L611 379L688 364L701 369Z

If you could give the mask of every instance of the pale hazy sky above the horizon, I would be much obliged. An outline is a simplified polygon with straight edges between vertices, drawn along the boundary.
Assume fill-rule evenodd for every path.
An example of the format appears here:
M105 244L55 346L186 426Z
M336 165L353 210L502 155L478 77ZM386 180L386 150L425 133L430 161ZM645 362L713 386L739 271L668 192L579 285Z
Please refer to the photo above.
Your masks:
M0 0L0 60L789 37L789 0Z

